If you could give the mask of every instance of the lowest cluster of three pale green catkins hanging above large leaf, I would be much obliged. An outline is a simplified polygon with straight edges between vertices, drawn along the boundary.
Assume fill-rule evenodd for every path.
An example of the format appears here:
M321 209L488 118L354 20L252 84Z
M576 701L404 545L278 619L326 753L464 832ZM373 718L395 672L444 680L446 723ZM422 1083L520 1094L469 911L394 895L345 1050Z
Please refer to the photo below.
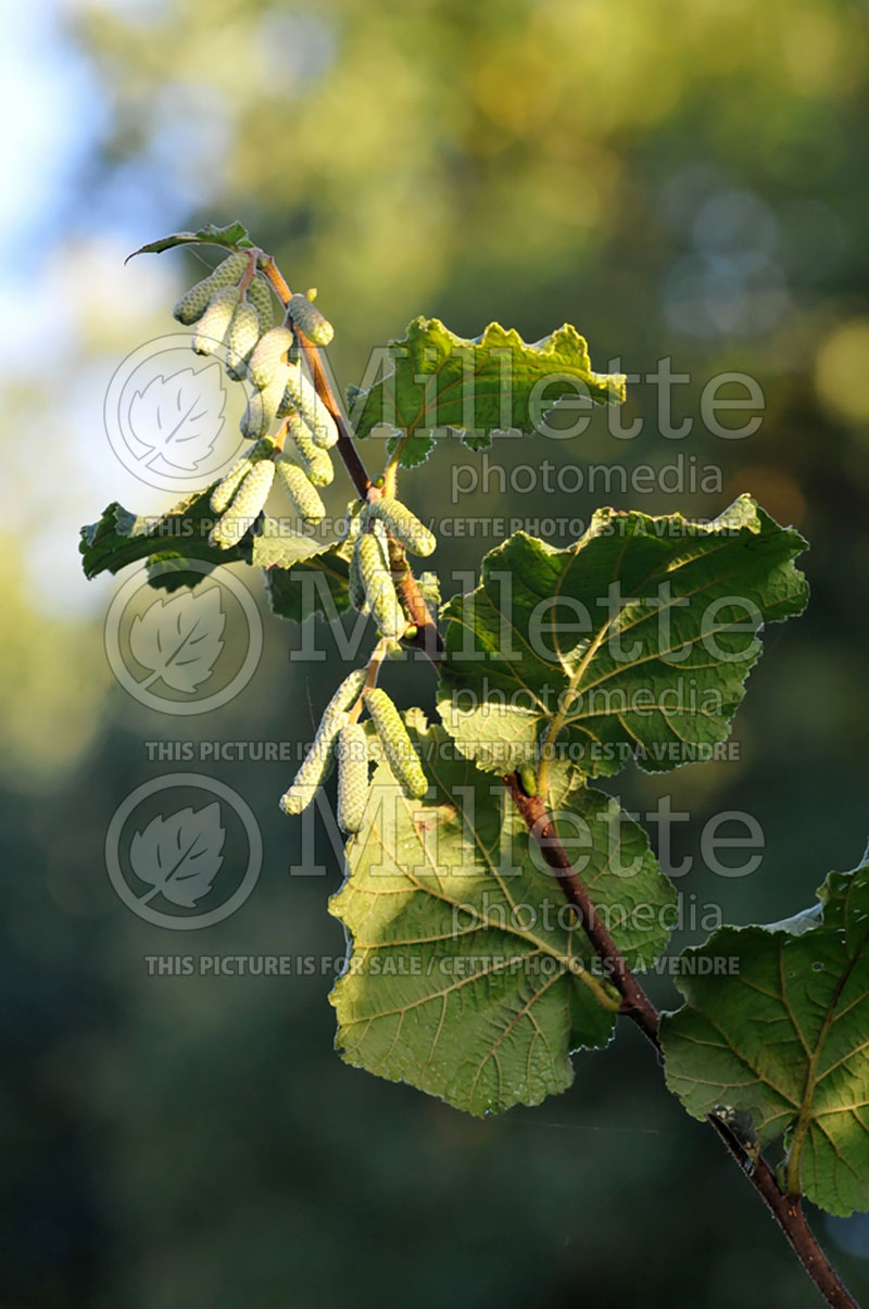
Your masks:
M368 801L369 738L352 717L361 696L390 771L408 800L421 800L428 789L419 755L402 717L386 691L365 689L368 670L344 678L326 706L310 750L292 787L281 797L287 814L300 814L313 801L338 759L338 822L347 833L359 831Z

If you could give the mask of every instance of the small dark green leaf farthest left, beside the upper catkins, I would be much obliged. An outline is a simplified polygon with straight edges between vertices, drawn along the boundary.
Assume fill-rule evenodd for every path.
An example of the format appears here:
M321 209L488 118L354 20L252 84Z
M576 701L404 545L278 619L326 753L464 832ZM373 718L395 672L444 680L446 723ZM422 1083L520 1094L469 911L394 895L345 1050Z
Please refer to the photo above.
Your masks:
M114 501L103 511L98 522L81 529L81 565L86 577L101 572L116 573L127 564L148 559L153 586L177 590L195 586L207 576L185 571L185 562L198 559L217 564L250 563L250 538L242 538L229 550L211 545L215 514L211 509L212 486L185 496L170 509L157 516L137 517Z

